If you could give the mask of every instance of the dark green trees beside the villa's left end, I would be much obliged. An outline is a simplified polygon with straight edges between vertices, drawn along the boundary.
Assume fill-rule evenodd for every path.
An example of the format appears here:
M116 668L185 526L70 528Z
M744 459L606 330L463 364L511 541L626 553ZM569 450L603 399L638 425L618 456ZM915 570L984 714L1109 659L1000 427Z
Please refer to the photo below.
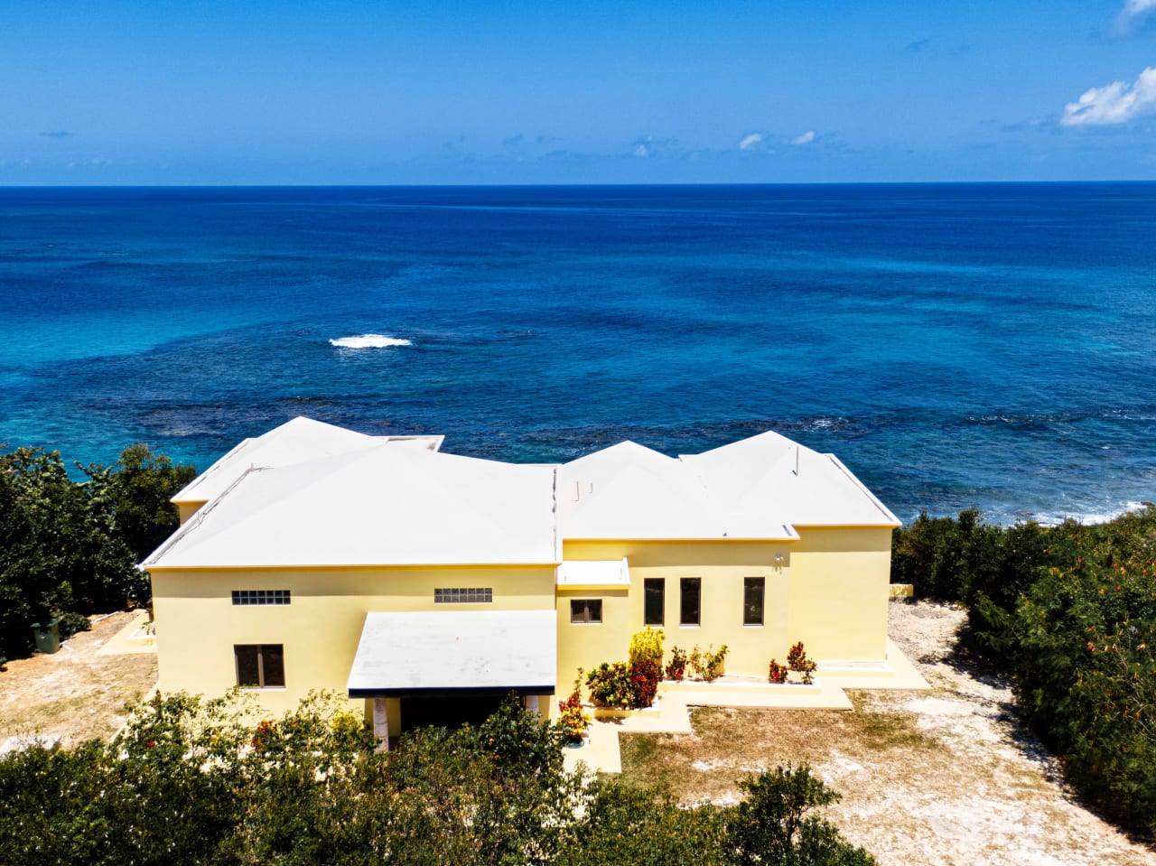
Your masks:
M64 638L91 614L146 605L136 563L177 528L169 498L197 475L142 444L77 468L73 481L57 451L0 454L0 666L31 652L34 623L59 620Z

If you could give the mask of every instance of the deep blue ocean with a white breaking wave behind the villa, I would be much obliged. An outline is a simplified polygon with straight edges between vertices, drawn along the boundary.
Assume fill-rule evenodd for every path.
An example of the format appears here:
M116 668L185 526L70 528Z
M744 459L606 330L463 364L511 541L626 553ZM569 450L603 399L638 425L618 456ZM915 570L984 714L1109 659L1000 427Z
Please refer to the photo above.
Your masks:
M6 188L0 298L0 443L69 461L772 428L904 519L1156 499L1156 184Z

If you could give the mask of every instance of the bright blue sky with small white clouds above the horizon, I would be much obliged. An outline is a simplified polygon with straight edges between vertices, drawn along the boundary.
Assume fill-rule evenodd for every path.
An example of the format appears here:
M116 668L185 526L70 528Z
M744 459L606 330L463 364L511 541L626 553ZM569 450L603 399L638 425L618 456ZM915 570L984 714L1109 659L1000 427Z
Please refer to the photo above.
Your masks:
M1156 179L1156 0L3 0L0 21L0 185Z

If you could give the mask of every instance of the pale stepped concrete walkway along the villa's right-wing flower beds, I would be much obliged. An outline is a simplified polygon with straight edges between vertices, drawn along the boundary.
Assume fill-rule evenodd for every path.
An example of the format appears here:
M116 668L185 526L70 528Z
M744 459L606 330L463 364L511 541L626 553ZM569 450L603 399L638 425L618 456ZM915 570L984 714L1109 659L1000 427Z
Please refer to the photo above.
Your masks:
M714 682L662 681L654 705L628 713L606 713L594 718L587 737L578 748L563 755L565 768L576 770L585 764L594 772L622 772L618 735L690 734L690 706L731 706L761 710L851 710L853 704L844 689L929 688L910 659L887 639L887 659L880 663L831 661L815 672L813 686L775 686L754 676L720 676ZM587 715L596 711L587 706Z

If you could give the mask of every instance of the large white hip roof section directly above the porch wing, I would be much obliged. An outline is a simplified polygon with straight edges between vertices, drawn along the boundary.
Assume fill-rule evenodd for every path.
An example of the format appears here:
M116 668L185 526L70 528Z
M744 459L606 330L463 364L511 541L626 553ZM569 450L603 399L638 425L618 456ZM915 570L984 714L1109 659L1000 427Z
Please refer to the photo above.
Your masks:
M372 443L247 471L146 568L527 565L562 557L554 467Z

